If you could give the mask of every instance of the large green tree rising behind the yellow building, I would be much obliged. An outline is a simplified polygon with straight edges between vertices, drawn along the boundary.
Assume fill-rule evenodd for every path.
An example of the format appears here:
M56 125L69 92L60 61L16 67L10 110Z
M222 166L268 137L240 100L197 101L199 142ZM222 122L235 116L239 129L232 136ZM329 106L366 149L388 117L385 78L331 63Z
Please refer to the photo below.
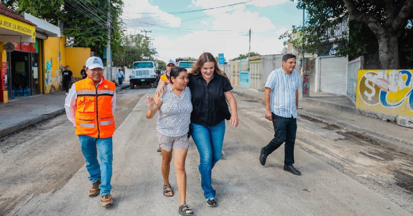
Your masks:
M103 56L103 48L107 46L107 0L2 0L2 3L19 14L27 12L54 25L60 21L67 36L66 46L90 47L96 56ZM112 50L121 44L122 10L122 0L111 0Z

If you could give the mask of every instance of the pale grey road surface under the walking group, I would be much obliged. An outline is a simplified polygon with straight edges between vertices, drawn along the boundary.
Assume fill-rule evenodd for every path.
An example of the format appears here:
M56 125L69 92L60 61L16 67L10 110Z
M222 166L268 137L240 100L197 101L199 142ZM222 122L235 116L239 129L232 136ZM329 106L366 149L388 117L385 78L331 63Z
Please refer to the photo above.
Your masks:
M148 93L152 95L154 90ZM156 118L145 118L143 98L114 134L112 194L115 205L112 208L104 209L100 198L87 196L90 183L82 166L61 190L33 196L9 215L178 215L175 170L171 170L175 196L164 197L161 156L155 152ZM408 188L389 180L386 184L400 193L391 194L387 192L392 189L385 191L377 186L381 182L370 180L367 184L362 181L363 175L380 174L377 170L371 171L375 169L363 168L387 164L385 161L377 163L377 158L371 156L374 152L365 153L367 156L356 154L346 160L352 151L362 146L355 143L368 141L318 122L299 119L297 135L300 138L295 158L302 176L282 170L283 147L268 157L266 166L261 166L259 149L273 136L271 122L263 118L261 104L240 97L237 100L240 125L234 129L227 123L222 160L213 170L218 200L216 208L205 205L196 170L199 154L191 142L186 164L187 202L196 215L411 215L409 206L394 204L404 197L408 197L404 202L411 201ZM74 136L67 139L78 142ZM348 146L352 146L352 151L347 151ZM385 148L380 146L377 145L377 149ZM327 148L329 151L324 150ZM383 155L393 153L391 150L382 152ZM62 160L66 163L71 161L70 158ZM392 168L405 172L400 166L411 166L411 157L405 156L400 160L405 165L394 163ZM363 162L364 165L351 166L352 162ZM353 175L357 172L361 177ZM388 180L389 176L383 175L382 180ZM376 190L370 190L372 187Z

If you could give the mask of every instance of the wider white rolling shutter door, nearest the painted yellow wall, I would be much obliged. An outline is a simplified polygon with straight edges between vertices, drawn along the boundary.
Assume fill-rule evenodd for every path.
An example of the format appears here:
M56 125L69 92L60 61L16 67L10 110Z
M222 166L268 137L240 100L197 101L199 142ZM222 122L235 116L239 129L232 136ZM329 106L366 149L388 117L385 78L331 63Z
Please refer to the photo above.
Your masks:
M329 57L320 60L320 91L346 95L347 58Z

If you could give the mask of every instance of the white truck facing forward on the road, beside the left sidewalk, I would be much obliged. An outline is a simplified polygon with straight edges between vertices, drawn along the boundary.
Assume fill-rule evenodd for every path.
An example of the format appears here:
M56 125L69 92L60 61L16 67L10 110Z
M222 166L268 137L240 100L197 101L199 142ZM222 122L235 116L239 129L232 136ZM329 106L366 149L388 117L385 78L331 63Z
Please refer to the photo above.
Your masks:
M157 73L156 66L153 61L139 61L133 62L132 73L129 75L129 83L131 89L136 86L142 85L154 85L156 88L157 83Z

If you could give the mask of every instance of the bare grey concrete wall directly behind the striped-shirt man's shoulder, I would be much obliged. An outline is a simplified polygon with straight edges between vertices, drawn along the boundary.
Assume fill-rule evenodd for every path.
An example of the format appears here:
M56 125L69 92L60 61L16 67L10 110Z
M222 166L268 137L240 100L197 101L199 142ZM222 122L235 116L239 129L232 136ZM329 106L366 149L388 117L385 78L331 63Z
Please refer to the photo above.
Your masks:
M282 55L284 54L276 54L276 55L261 55L261 88L260 91L264 91L265 83L267 82L267 78L270 73L282 66Z

